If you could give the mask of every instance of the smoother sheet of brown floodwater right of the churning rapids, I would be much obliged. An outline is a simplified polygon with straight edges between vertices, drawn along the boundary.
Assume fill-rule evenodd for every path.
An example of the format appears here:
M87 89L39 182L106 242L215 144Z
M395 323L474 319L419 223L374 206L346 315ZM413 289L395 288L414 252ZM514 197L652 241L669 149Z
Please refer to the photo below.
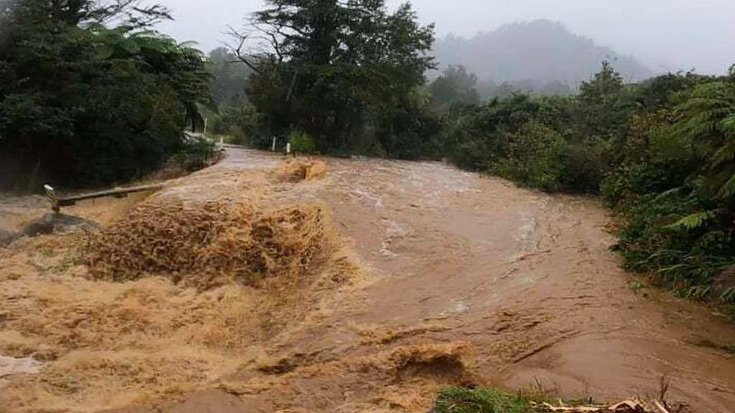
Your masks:
M381 273L369 309L345 315L422 339L467 340L501 387L539 381L566 397L655 395L733 412L735 358L692 343L733 342L731 323L666 293L628 287L592 198L523 190L438 163L330 162L320 197ZM414 339L415 340L415 339Z

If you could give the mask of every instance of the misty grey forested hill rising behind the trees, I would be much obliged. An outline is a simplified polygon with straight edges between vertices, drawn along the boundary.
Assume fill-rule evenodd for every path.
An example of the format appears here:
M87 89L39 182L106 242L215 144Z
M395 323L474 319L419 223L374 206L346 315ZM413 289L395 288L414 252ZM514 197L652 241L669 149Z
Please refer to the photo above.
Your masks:
M464 65L481 81L498 83L560 81L576 87L599 70L602 60L610 60L628 82L653 75L634 57L597 46L548 20L506 24L470 39L449 35L437 40L434 53L442 68Z

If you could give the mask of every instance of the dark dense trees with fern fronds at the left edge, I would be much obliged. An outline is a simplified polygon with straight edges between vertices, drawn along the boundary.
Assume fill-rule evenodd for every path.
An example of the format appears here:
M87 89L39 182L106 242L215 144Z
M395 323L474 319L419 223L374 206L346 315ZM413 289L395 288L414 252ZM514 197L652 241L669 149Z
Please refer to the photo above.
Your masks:
M209 73L154 31L168 18L133 0L0 1L0 187L111 184L209 150L183 134Z

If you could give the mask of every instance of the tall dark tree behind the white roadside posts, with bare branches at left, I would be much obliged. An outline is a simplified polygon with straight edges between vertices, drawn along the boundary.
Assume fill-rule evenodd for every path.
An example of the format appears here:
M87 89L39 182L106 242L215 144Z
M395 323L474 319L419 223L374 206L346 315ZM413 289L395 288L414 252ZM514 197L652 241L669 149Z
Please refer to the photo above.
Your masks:
M271 133L303 129L323 150L350 148L433 67L433 26L417 24L409 4L392 14L383 0L267 4L233 49L255 71L248 96ZM248 41L259 49L245 54Z

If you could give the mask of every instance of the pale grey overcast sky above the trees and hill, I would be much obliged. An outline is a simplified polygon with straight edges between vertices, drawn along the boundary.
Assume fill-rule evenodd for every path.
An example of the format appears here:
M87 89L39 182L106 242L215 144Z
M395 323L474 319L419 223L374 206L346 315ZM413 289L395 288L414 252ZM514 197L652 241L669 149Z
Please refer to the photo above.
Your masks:
M242 26L261 0L159 0L176 21L161 26L179 40L209 51L227 40L228 24ZM387 0L394 9L402 1ZM735 63L735 0L415 0L421 21L437 35L470 37L514 21L548 18L653 69L696 68L725 73Z

